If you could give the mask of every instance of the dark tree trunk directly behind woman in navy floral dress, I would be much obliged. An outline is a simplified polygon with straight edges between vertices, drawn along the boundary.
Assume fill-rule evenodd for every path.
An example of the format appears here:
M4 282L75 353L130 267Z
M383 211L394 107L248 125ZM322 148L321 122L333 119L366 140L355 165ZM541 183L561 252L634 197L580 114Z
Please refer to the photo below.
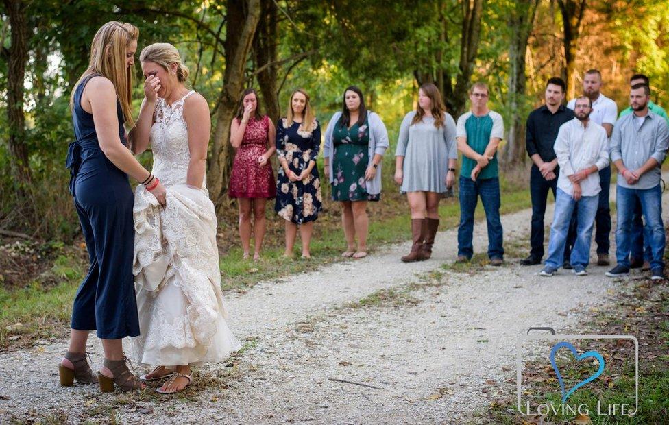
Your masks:
M258 68L265 64L276 63L278 39L277 7L273 0L262 0L263 20L258 24L256 38L254 40L254 53L256 57L256 66ZM278 63L267 66L265 71L258 73L258 85L260 93L263 95L267 114L275 121L281 114L278 99L278 90L276 82L278 80Z

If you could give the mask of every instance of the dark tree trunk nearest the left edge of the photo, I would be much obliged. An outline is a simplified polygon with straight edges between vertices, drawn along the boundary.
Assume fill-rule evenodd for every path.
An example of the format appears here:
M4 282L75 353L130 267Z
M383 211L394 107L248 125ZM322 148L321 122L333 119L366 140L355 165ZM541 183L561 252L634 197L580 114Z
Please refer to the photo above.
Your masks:
M23 114L23 82L25 64L28 60L27 3L4 0L9 15L12 44L3 51L8 62L7 117L10 127L8 145L11 154L12 173L23 191L31 181L28 165L28 147L25 141L25 115Z

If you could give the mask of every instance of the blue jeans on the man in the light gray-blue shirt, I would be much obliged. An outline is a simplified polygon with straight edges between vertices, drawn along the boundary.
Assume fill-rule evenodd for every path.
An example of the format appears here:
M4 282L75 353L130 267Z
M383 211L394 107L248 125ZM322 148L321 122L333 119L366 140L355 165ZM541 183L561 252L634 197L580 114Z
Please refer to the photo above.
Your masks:
M662 189L660 185L651 189L627 189L616 186L616 207L618 226L616 228L616 260L618 264L629 267L632 217L635 203L640 202L641 211L646 221L646 243L650 245L650 268L664 269L664 223L662 223Z

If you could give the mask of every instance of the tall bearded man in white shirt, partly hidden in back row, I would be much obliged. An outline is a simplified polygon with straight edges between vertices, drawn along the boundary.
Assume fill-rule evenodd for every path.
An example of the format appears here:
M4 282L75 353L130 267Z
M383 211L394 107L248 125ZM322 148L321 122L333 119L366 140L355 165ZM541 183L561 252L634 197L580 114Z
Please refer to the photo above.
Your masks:
M602 74L596 69L589 69L583 75L583 95L592 100L592 113L590 121L604 127L607 136L611 137L613 132L613 123L616 123L618 117L618 106L616 102L609 99L601 93ZM572 99L567 108L574 109L576 99ZM609 248L611 247L611 208L609 207L609 187L611 186L611 167L605 167L599 171L599 186L602 191L599 193L599 205L595 215L595 243L597 244L598 265L609 265ZM569 247L574 244L576 239L575 226L572 222L569 237L567 239L567 250L565 256L569 255Z

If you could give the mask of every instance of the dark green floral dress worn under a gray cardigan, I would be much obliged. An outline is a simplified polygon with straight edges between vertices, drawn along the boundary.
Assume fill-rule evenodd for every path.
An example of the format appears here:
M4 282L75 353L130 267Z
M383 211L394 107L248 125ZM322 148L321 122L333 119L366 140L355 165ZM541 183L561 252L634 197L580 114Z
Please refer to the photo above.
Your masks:
M351 128L341 121L332 133L335 155L332 162L332 199L335 201L378 201L380 195L367 193L365 171L369 165L369 121Z

